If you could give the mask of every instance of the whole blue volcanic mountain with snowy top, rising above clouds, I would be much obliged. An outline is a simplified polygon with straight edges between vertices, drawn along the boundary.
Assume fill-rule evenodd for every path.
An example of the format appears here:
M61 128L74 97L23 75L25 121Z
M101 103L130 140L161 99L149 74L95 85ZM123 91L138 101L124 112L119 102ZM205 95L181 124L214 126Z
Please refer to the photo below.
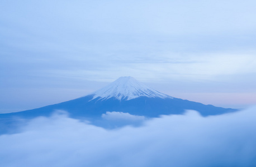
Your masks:
M11 117L31 119L37 116L50 116L55 110L68 111L70 117L88 119L99 119L106 112L113 111L145 117L183 114L185 110L196 110L202 116L236 111L177 99L151 89L133 77L120 77L110 85L87 96L38 109L0 114L0 119L10 120Z

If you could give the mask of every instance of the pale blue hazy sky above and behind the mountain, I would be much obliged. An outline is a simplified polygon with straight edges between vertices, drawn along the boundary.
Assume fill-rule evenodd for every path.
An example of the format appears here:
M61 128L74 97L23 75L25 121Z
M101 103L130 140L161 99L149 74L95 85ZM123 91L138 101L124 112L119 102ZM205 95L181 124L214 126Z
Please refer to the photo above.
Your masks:
M132 76L170 96L256 103L255 1L2 1L0 112Z

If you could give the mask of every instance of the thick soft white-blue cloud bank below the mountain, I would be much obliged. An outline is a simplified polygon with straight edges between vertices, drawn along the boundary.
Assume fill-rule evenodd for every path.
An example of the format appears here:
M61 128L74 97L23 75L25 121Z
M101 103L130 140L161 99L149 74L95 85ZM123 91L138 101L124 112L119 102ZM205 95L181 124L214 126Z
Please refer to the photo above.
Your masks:
M65 114L0 136L1 166L256 166L256 107L233 114L162 116L106 130Z

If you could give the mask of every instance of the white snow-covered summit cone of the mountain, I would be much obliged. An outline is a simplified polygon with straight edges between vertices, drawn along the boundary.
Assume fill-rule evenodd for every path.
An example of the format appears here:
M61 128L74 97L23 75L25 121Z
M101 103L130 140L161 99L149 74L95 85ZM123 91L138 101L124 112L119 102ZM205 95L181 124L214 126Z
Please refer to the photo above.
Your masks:
M93 95L93 99L100 97L99 99L103 100L110 99L111 97L115 97L118 100L131 100L140 96L160 97L162 99L173 98L141 84L133 77L120 77L110 85L93 92L91 95Z

